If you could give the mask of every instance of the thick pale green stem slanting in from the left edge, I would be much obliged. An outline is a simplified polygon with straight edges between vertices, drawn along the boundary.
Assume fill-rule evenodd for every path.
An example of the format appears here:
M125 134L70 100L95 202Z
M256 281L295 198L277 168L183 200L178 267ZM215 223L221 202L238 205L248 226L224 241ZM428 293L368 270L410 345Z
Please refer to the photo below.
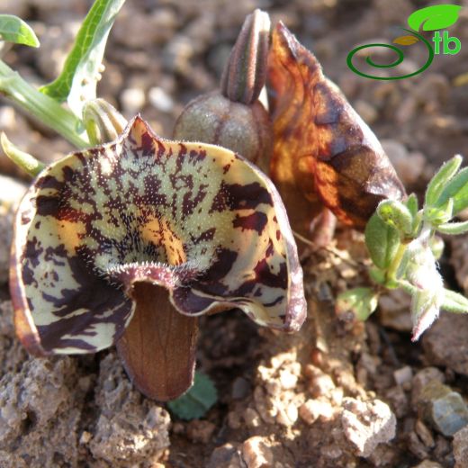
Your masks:
M49 96L23 80L12 68L0 60L0 93L17 103L41 122L56 130L76 148L88 148L81 121Z

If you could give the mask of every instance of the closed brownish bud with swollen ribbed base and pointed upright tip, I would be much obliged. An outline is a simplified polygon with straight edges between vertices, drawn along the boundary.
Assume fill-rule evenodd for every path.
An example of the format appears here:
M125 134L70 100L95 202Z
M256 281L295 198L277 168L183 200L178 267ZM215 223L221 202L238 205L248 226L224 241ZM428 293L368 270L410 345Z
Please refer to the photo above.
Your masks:
M258 95L266 81L269 31L268 14L256 10L247 16L220 91L203 94L187 104L175 122L174 139L229 148L268 171L273 128Z

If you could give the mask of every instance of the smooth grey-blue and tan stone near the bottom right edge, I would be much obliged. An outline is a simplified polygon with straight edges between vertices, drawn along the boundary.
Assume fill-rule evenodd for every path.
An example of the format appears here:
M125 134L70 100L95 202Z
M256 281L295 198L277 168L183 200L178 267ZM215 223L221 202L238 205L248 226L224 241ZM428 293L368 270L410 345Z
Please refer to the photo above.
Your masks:
M437 381L428 383L419 394L419 414L446 437L468 425L468 407L462 396Z

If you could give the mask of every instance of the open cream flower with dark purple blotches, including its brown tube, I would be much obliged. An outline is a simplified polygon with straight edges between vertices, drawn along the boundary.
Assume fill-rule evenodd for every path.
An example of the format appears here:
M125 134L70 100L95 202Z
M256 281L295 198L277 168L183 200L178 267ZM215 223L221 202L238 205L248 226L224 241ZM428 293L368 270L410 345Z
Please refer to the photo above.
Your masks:
M40 173L18 210L10 286L31 353L117 343L133 382L162 401L192 383L197 316L238 308L292 331L306 310L269 179L228 149L160 139L139 117Z

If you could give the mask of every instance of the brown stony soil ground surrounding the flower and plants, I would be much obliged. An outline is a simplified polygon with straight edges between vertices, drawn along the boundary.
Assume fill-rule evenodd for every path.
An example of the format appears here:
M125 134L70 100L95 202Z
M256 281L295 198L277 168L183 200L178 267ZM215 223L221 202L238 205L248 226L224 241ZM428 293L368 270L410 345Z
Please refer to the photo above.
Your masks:
M57 76L90 1L2 0L40 49L0 50L35 84ZM455 55L424 73L369 80L347 68L360 43L388 41L419 0L127 0L109 40L99 94L170 137L184 104L218 86L245 16L266 10L311 49L371 125L408 192L468 150L468 2L450 28ZM424 62L411 51L408 69ZM44 161L72 148L0 101L0 130ZM410 300L392 293L365 324L334 298L368 283L363 236L338 228L327 248L298 241L308 298L302 330L260 329L242 313L202 319L198 368L219 401L184 422L135 391L114 350L38 359L14 337L7 258L28 178L0 155L0 467L468 467L468 317L443 313L410 342ZM447 241L446 284L468 293L468 238Z

